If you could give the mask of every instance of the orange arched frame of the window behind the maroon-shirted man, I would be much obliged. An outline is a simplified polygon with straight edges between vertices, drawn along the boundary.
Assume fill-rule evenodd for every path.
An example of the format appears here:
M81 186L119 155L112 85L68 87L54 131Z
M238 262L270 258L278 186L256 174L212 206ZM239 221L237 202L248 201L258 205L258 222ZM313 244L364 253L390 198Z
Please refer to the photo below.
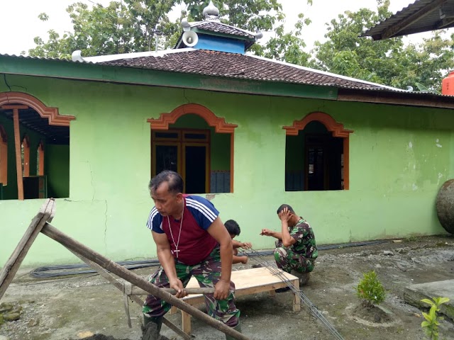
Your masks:
M214 127L216 133L230 133L231 134L231 142L230 142L230 192L233 193L233 179L234 179L234 132L235 129L238 128L238 125L226 123L224 118L219 118L214 115L213 112L206 108L205 106L201 106L195 103L183 104L182 106L178 106L170 113L161 113L160 117L149 118L147 120L150 123L151 130L169 130L169 124L174 124L178 118L182 117L183 115L187 114L194 114L199 115L199 117L204 118L206 123L209 126Z

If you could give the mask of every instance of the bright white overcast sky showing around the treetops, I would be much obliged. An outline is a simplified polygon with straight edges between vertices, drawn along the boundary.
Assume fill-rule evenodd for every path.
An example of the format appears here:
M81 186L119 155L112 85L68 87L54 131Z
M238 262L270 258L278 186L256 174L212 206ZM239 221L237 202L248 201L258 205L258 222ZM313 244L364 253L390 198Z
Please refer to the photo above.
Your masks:
M51 28L60 35L72 30L70 16L65 11L67 6L81 1L92 5L97 2L109 4L109 0L0 0L0 54L19 55L21 51L35 47L33 38L40 36L48 40L47 31ZM415 0L391 0L392 13L414 3ZM312 6L306 5L305 0L281 0L286 14L286 26L291 29L297 21L298 13L304 13L305 18L311 18L312 23L305 29L304 41L309 50L316 40L323 41L326 33L325 23L337 18L344 11L358 11L367 7L377 10L376 0L313 0ZM47 13L48 21L40 21L39 13ZM418 42L427 33L410 35L409 39Z

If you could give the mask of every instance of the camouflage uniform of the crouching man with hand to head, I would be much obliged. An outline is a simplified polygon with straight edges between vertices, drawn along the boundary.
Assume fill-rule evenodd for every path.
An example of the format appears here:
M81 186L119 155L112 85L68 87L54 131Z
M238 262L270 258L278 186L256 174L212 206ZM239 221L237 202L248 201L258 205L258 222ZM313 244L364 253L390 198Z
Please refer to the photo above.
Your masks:
M297 225L289 227L290 236L297 240L292 246L284 246L282 240L276 242L275 260L279 268L287 273L292 270L308 273L314 270L314 261L319 256L311 226L303 218Z

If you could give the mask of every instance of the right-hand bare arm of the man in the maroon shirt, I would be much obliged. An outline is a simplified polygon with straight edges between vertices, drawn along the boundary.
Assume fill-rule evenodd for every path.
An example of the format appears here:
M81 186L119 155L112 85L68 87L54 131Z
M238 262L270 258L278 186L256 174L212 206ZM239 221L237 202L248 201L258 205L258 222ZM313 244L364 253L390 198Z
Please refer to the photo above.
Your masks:
M216 217L216 220L211 223L206 231L209 232L211 237L216 239L221 250L221 278L219 278L218 283L216 283L214 298L216 300L225 300L228 297L230 276L232 273L232 239L219 217Z

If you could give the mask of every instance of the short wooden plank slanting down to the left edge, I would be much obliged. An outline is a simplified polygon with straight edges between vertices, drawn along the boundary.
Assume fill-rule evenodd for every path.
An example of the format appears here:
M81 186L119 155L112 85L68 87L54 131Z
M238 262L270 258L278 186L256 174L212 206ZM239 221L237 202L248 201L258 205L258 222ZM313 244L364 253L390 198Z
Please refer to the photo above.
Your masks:
M45 203L41 206L38 214L33 217L31 224L26 229L22 239L19 241L16 249L14 249L13 254L11 254L8 261L6 261L6 264L0 273L0 300L16 275L18 268L21 266L23 259L28 253L28 250L45 225L45 222L52 219L54 216L55 200L53 198L49 198L48 200L45 200Z

